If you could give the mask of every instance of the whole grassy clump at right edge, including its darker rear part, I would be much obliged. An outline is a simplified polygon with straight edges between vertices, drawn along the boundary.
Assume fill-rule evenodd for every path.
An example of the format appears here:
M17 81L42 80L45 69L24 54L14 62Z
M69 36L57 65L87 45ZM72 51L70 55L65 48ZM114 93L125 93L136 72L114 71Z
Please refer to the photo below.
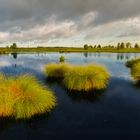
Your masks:
M140 58L126 62L126 66L131 69L131 76L135 81L140 81Z

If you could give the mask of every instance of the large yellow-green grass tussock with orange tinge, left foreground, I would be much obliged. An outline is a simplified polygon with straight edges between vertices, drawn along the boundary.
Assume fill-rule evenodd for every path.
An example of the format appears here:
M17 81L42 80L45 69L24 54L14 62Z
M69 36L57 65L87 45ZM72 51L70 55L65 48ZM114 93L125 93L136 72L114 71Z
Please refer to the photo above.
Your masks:
M0 116L29 119L50 112L55 104L52 92L33 76L0 76Z

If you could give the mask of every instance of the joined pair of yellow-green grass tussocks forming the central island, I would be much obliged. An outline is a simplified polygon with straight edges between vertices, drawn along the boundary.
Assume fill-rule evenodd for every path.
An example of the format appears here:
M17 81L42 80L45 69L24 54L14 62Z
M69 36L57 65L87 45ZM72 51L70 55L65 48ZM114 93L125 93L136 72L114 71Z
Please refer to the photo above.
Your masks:
M99 65L48 64L45 70L49 78L62 78L68 90L101 90L106 88L109 80L108 72Z

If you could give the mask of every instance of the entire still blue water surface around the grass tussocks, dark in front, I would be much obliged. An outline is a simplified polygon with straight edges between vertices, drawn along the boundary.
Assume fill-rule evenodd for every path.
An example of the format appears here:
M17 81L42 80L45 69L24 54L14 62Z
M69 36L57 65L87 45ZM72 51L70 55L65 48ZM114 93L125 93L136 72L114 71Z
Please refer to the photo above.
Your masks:
M46 81L44 65L58 62L98 63L111 73L105 91L92 95L68 93L58 82ZM31 121L0 119L0 140L140 139L140 86L131 80L125 62L135 53L40 53L0 56L0 72L32 74L54 91L58 105L49 115Z

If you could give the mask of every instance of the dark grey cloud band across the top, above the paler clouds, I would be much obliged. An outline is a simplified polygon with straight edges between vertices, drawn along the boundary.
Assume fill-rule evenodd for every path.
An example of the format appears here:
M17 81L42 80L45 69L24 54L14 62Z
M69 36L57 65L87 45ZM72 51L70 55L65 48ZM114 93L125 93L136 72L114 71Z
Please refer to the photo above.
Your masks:
M28 20L32 19L32 24L45 22L52 15L57 20L76 21L94 11L98 13L94 24L103 24L139 15L139 5L140 0L0 0L0 23L29 26Z

